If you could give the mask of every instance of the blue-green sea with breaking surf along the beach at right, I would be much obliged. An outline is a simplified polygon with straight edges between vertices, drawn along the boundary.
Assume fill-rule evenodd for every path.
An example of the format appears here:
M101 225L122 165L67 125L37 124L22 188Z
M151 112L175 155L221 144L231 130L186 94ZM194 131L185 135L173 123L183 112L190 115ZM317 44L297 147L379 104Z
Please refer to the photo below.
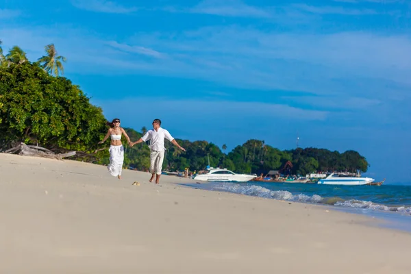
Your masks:
M366 214L389 221L387 227L411 232L411 186L330 186L264 182L212 182L191 184L195 188L242 195L316 203L336 210Z

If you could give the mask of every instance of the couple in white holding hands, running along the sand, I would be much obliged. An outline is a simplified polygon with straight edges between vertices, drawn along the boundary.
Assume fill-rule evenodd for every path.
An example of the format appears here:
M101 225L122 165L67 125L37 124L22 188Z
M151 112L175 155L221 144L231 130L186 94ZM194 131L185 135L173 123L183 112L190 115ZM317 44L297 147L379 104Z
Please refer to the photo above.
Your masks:
M173 145L177 146L182 151L186 151L183 147L178 145L177 141L171 136L169 131L163 129L161 126L160 119L154 119L153 121L153 129L150 129L144 136L138 139L136 142L132 142L127 136L125 130L120 127L120 120L114 119L112 123L108 123L110 125L110 129L108 129L107 134L105 135L104 139L99 142L102 144L108 137L111 137L111 145L110 149L110 164L107 166L108 171L111 175L119 177L121 179L121 171L123 169L123 162L124 162L124 147L121 144L121 134L124 134L125 138L127 138L127 142L129 143L130 147L134 145L145 142L147 140L151 140L150 142L150 173L151 178L150 182L153 182L155 177L155 184L158 184L160 181L162 163L164 160L164 138L171 141Z

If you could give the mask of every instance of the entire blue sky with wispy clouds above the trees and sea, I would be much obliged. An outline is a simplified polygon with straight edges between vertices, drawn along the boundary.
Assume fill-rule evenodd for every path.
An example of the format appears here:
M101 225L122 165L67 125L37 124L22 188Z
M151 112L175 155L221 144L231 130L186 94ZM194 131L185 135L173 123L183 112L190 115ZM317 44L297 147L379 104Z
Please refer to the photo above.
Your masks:
M411 1L0 0L3 51L54 43L107 119L228 150L353 149L411 182Z

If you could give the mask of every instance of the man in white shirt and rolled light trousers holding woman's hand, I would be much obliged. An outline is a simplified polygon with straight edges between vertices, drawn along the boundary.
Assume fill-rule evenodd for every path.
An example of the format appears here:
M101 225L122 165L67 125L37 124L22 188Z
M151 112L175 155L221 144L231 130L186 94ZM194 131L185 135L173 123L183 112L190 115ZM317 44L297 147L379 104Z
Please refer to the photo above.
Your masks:
M155 184L158 184L160 181L162 162L164 160L164 138L171 141L173 145L177 146L182 151L186 151L183 147L178 145L177 141L171 136L168 130L163 129L161 126L160 119L154 119L153 129L150 129L145 136L142 136L136 142L132 142L131 145L134 146L140 142L150 141L150 172L151 178L150 183L153 182L155 176Z

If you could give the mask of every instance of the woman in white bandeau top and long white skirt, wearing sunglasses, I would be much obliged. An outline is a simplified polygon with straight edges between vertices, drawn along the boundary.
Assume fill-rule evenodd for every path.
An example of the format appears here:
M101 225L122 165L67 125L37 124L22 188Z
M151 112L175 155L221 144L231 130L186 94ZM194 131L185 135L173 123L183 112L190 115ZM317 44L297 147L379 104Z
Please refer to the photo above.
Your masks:
M123 127L120 127L120 119L114 119L111 123L107 122L107 125L110 125L110 129L108 129L107 134L99 144L103 144L103 142L110 136L111 145L110 149L108 149L108 152L110 152L110 164L108 164L107 169L111 175L121 179L121 171L124 162L124 147L121 143L121 134L124 134L128 143L130 143L130 138Z

